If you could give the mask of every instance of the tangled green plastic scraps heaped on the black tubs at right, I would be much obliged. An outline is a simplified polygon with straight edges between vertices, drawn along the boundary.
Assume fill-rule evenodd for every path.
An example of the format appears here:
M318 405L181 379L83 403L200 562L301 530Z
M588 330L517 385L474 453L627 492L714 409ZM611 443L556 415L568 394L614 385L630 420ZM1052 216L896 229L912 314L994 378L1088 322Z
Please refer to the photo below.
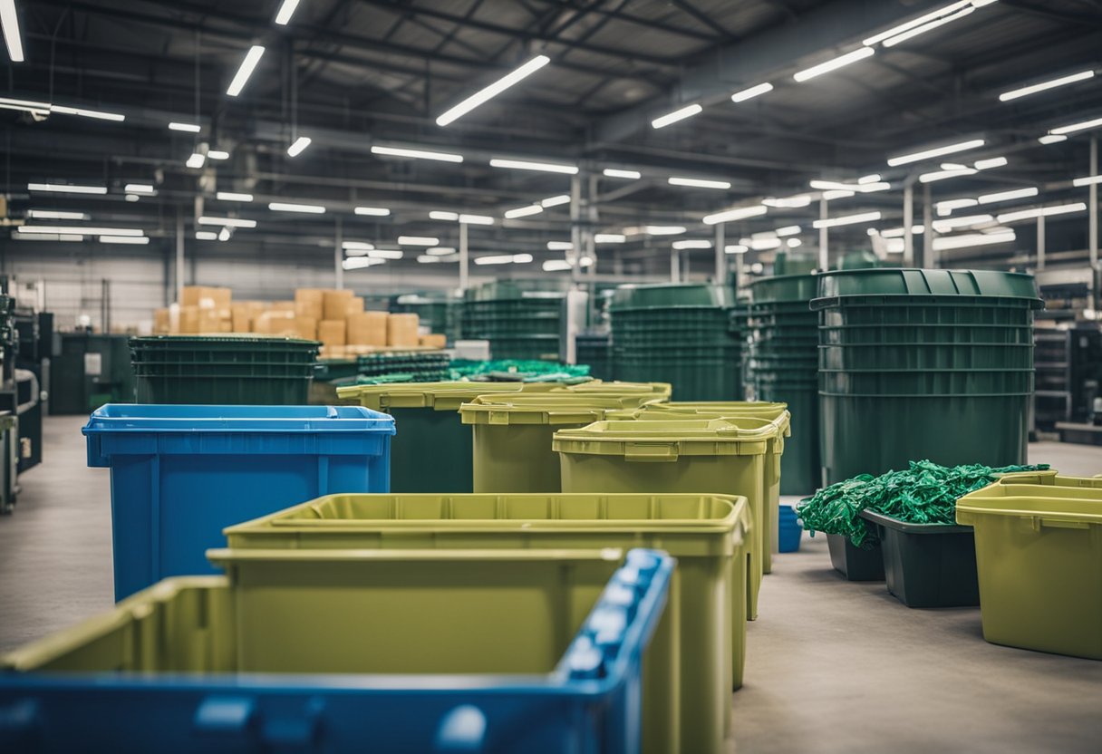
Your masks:
M862 474L824 487L800 503L797 515L811 536L815 531L842 535L868 549L876 543L876 534L861 518L865 508L908 524L953 524L958 498L986 487L1000 474L1047 468L1048 464L992 468L911 461L906 471Z

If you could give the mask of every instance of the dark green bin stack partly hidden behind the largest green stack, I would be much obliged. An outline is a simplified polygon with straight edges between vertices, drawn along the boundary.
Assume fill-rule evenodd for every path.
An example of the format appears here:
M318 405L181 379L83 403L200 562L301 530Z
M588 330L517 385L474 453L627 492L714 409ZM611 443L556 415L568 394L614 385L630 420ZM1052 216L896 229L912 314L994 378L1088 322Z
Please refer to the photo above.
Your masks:
M750 284L747 374L754 397L788 403L795 418L781 461L782 495L809 495L820 484L819 316L810 308L815 291L813 274Z

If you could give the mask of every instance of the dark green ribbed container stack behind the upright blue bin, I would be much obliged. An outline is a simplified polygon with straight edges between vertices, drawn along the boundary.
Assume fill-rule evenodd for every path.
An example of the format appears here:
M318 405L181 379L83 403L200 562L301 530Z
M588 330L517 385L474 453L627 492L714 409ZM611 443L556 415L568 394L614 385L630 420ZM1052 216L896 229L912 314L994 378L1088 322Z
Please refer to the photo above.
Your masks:
M282 337L155 335L130 340L139 403L305 405L321 346Z

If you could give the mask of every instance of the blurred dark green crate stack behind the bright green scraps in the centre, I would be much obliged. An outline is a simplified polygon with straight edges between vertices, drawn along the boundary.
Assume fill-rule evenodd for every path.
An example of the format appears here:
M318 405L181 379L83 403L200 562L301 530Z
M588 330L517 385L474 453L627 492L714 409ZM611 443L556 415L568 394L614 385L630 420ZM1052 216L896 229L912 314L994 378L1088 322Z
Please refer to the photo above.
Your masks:
M559 281L500 280L467 290L463 337L489 341L490 358L559 360L565 291Z

